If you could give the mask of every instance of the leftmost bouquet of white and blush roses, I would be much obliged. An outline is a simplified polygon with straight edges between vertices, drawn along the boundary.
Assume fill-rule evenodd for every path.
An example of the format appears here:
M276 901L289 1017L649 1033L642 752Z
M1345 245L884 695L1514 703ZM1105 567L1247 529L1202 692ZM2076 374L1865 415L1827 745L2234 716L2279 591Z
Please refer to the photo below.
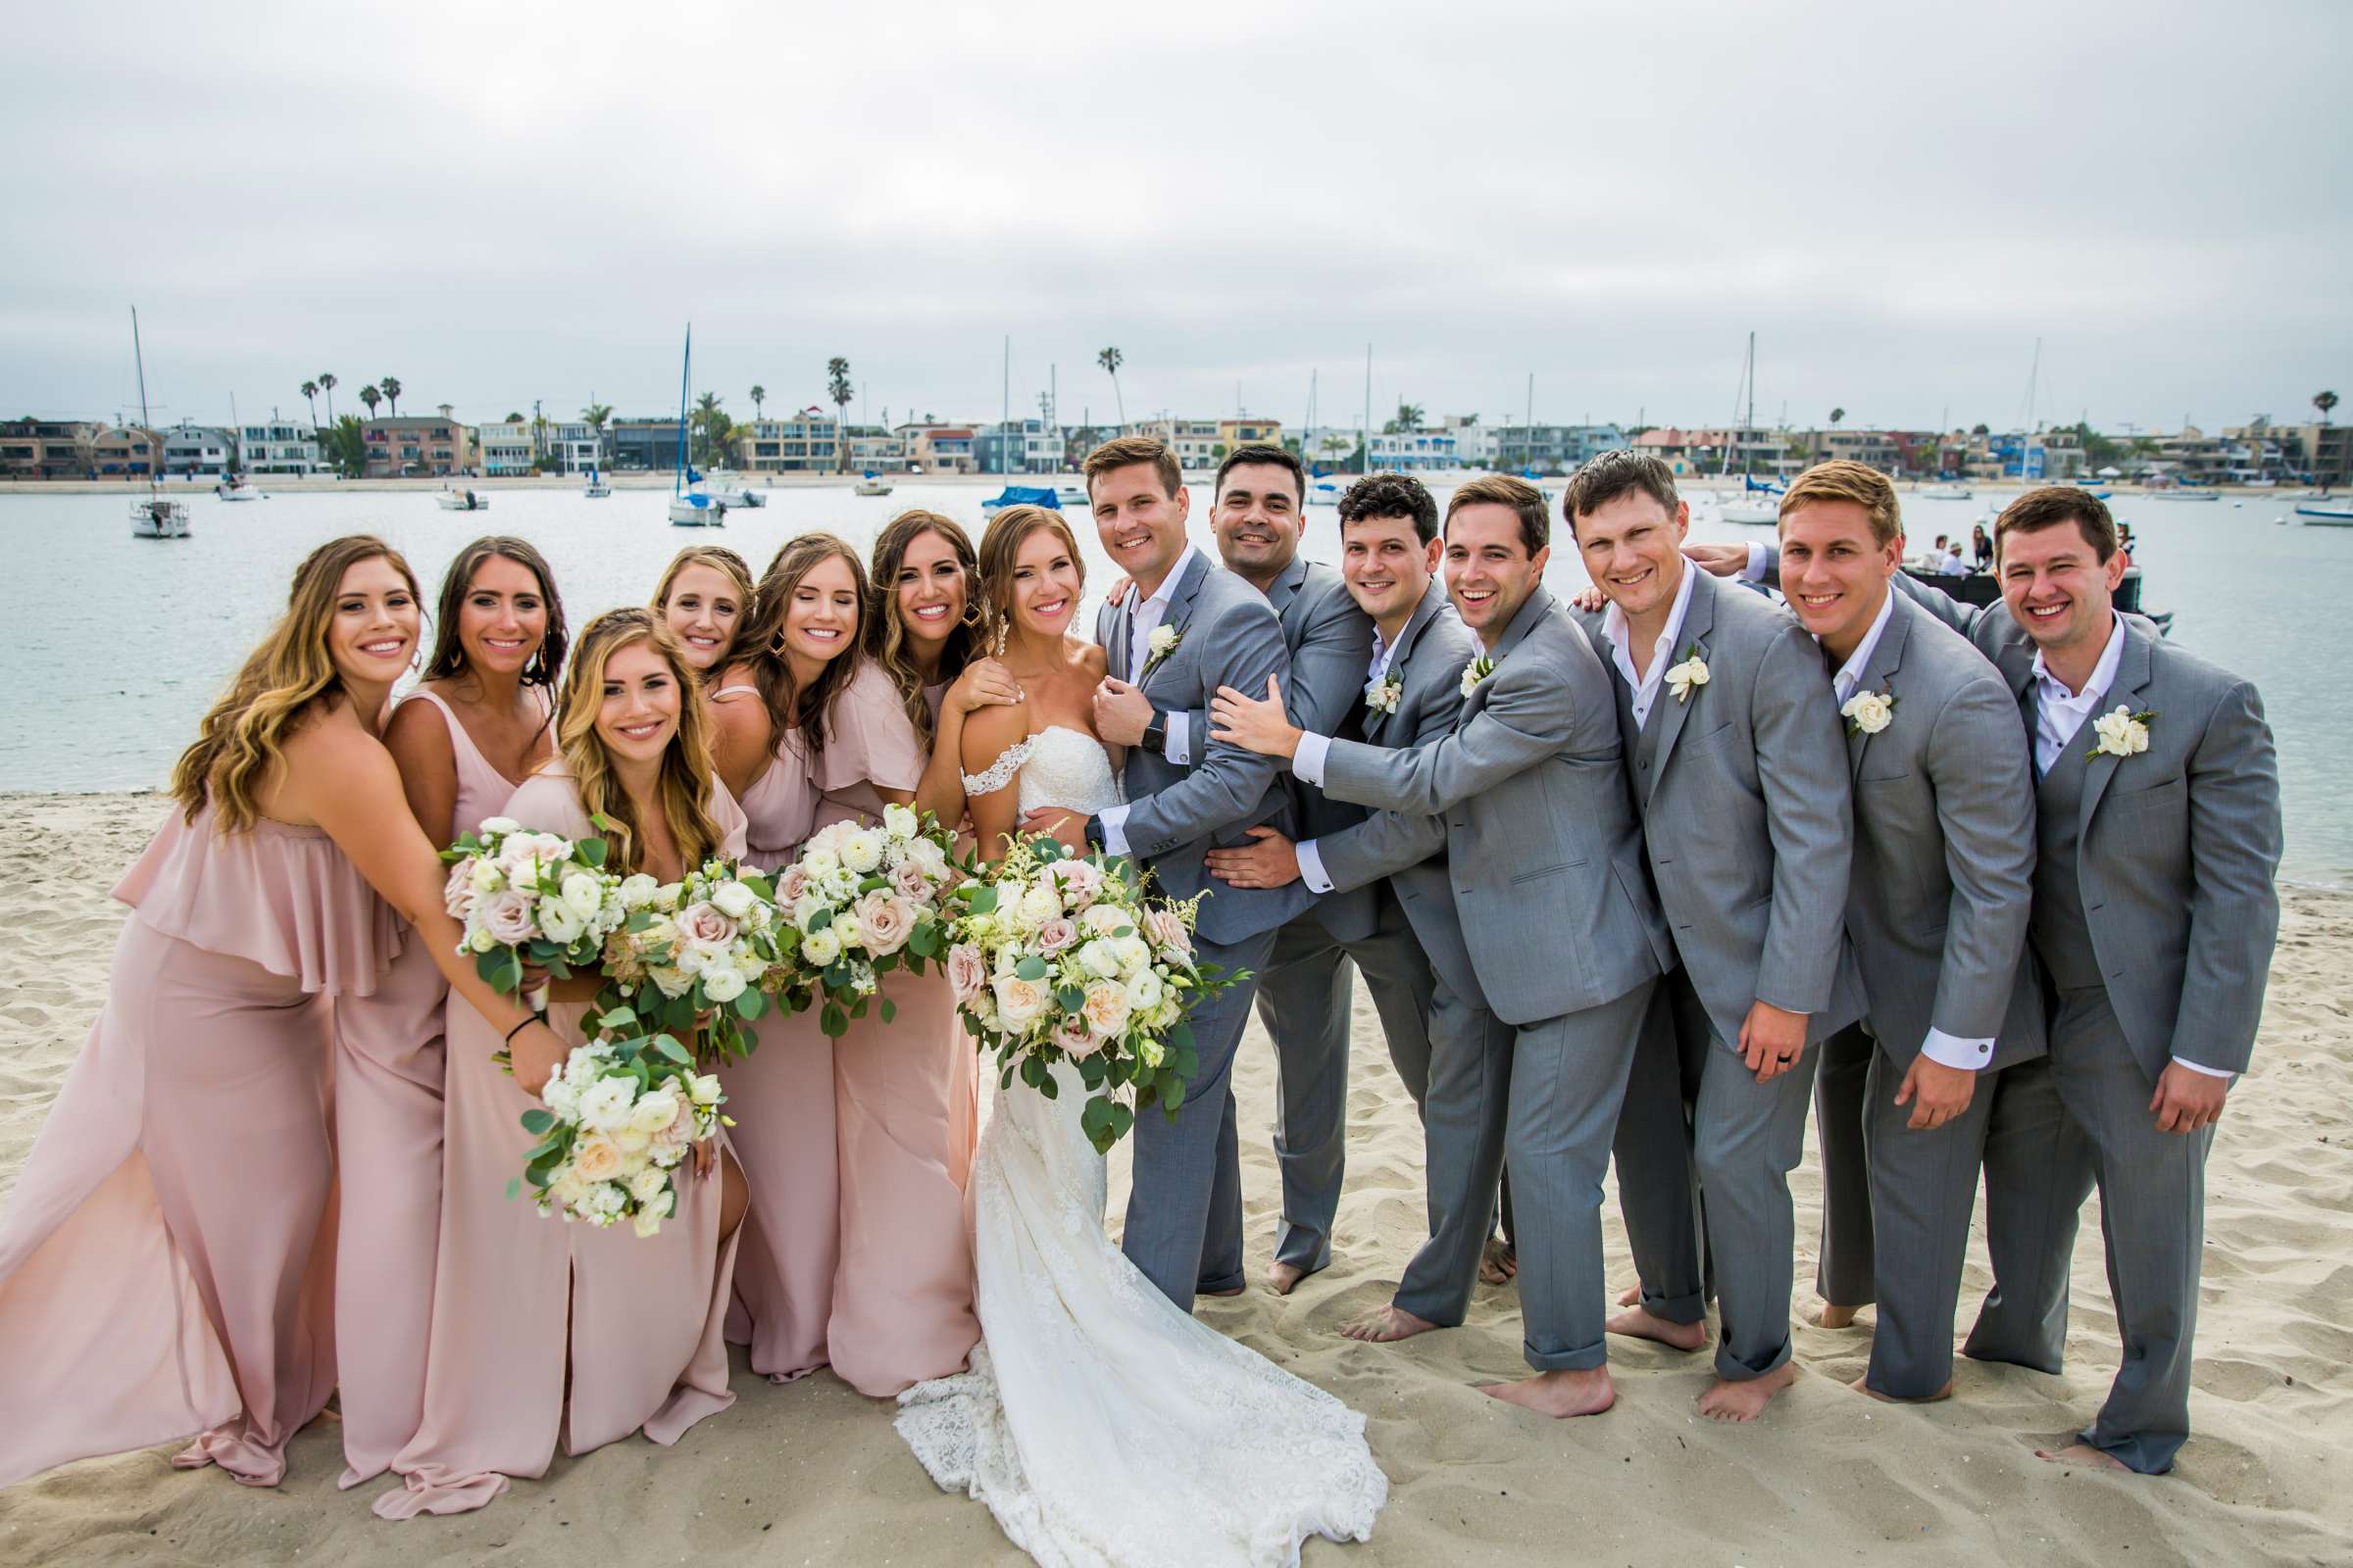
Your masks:
M511 816L482 818L442 851L442 905L464 922L459 952L501 992L522 990L522 966L558 980L595 969L621 926L621 884L605 870L605 839L532 832Z

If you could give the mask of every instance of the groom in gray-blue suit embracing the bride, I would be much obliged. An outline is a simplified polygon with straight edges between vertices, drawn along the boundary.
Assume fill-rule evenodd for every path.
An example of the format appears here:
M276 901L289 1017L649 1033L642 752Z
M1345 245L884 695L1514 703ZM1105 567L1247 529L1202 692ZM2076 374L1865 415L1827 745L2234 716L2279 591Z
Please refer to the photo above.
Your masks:
M1257 588L1186 541L1191 496L1176 456L1160 442L1125 435L1087 454L1087 503L1111 564L1134 581L1094 621L1111 675L1141 686L1153 708L1207 708L1219 686L1266 691L1289 679L1282 621ZM1191 766L1158 748L1132 748L1125 804L1099 816L1033 811L1024 832L1052 832L1071 849L1134 856L1172 898L1205 896L1195 938L1207 964L1252 978L1205 1001L1188 1023L1200 1070L1176 1119L1136 1117L1136 1178L1127 1201L1127 1258L1160 1291L1193 1309L1195 1291L1242 1288L1242 1164L1233 1128L1233 1051L1242 1041L1257 976L1275 931L1315 898L1301 884L1231 889L1209 879L1202 856L1249 844L1252 827L1297 837L1292 797L1273 762L1202 738Z

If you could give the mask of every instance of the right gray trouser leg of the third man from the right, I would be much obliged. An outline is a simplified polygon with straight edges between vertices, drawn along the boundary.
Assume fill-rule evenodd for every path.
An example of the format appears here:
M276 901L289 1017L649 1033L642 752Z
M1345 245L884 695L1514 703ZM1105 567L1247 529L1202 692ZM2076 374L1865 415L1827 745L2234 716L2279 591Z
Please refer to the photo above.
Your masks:
M1744 1382L1788 1361L1788 1291L1798 1272L1798 1215L1788 1173L1805 1159L1805 1107L1821 1051L1758 1084L1741 1053L1708 1044L1692 1107L1692 1161L1708 1194L1708 1260L1722 1331L1715 1375ZM1525 1248L1522 1248L1525 1253Z

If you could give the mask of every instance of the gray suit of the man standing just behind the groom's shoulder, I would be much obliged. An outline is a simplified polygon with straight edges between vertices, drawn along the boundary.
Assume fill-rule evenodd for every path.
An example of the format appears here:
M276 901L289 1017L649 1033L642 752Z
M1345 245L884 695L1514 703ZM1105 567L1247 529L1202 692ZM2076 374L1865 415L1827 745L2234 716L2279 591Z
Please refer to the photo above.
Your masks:
M1360 738L1365 670L1372 663L1372 616L1355 607L1339 571L1292 557L1266 590L1282 618L1292 675L1282 705L1292 724L1320 736ZM1254 693L1264 696L1264 686ZM1186 741L1209 733L1195 710ZM1322 837L1365 820L1362 806L1320 790L1297 790L1299 837ZM1332 1215L1348 1150L1348 1004L1351 969L1365 978L1388 1037L1388 1060L1421 1107L1431 1077L1431 961L1386 882L1322 893L1278 933L1259 976L1259 1023L1275 1041L1275 1164L1282 1168L1282 1218L1275 1260L1308 1274L1332 1262Z

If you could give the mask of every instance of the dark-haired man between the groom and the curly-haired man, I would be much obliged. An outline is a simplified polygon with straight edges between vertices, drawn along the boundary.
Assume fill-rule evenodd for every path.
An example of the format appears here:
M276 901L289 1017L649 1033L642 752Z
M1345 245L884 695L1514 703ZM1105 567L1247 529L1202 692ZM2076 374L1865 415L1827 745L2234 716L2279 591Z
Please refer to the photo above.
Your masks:
M1348 597L1339 571L1299 555L1306 522L1299 458L1282 447L1235 447L1217 470L1214 494L1209 531L1217 552L1282 618L1282 644L1292 656L1285 682L1292 722L1360 738L1372 616ZM1094 729L1113 745L1146 745L1174 766L1191 766L1195 748L1207 745L1209 712L1207 705L1162 712L1132 682L1106 679L1094 696ZM1360 806L1318 790L1299 790L1294 804L1308 835L1365 820ZM1275 827L1249 832L1280 837ZM1217 851L1209 870L1217 875ZM1275 933L1275 952L1259 976L1259 1023L1273 1037L1278 1060L1282 1218L1268 1272L1278 1295L1289 1295L1301 1279L1332 1262L1332 1215L1339 1211L1348 1131L1351 969L1372 992L1388 1060L1414 1107L1431 1074L1431 964L1395 893L1381 879L1315 893L1313 907Z

